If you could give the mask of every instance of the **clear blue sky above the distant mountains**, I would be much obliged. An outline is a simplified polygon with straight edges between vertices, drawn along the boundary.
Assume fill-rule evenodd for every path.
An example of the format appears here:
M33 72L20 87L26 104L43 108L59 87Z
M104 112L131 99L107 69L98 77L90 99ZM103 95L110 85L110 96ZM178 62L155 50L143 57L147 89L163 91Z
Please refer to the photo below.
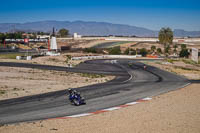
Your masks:
M159 30L200 30L200 0L7 0L0 23L98 21Z

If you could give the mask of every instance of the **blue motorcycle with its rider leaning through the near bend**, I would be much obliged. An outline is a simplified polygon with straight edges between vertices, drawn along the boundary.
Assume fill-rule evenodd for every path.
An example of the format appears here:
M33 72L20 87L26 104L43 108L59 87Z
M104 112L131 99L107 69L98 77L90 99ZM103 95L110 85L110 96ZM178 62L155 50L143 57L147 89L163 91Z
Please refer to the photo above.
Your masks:
M81 97L80 93L76 90L69 89L69 100L75 106L86 104L85 99Z

